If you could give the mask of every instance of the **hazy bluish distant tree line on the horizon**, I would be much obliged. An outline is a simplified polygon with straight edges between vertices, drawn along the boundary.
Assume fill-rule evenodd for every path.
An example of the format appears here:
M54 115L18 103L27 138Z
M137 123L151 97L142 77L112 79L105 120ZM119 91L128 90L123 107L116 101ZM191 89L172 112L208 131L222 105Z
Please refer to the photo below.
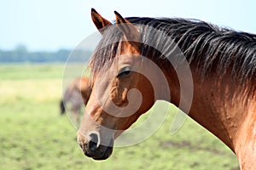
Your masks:
M19 45L13 50L0 49L0 63L47 63L47 62L66 62L68 56L72 57L68 60L71 62L86 61L90 58L91 51L72 51L68 49L60 49L55 52L39 51L29 52L25 46Z

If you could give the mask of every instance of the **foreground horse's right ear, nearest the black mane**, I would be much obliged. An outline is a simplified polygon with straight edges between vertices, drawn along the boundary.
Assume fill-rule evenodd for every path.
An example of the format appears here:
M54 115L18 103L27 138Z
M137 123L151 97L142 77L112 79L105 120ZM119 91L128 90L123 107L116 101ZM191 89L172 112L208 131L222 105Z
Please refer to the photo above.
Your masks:
M121 31L123 31L125 38L128 41L139 42L140 41L140 31L137 26L131 24L129 20L123 18L118 12L114 11L116 17L116 24Z

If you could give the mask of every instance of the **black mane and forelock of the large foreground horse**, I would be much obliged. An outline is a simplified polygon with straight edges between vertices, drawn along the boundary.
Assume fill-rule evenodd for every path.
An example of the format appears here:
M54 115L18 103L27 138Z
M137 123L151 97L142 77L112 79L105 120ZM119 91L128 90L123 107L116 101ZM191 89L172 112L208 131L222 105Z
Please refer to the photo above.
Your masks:
M201 71L202 79L217 72L222 77L231 71L236 82L247 84L250 90L256 89L256 35L247 32L221 28L201 20L167 19L167 18L126 18L138 26L146 26L142 31L142 55L148 56L148 42L155 42L154 47L165 54L153 55L154 60L165 63L167 55L171 56L173 44L166 42L166 36L181 49L189 64L194 63ZM160 30L155 35L154 30ZM154 35L150 34L154 32ZM110 66L118 54L118 44L122 41L122 32L116 26L109 26L104 31L94 54L90 59L92 75L104 66ZM166 67L170 67L166 65ZM231 70L230 70L231 69ZM245 85L246 86L246 85Z

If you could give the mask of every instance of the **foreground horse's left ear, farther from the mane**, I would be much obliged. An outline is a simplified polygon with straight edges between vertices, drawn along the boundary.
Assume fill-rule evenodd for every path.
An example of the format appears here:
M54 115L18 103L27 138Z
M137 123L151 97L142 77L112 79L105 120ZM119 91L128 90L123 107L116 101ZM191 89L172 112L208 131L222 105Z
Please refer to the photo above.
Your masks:
M111 22L104 19L102 15L98 14L94 8L91 8L91 19L94 22L96 28L103 34L105 26L111 26Z

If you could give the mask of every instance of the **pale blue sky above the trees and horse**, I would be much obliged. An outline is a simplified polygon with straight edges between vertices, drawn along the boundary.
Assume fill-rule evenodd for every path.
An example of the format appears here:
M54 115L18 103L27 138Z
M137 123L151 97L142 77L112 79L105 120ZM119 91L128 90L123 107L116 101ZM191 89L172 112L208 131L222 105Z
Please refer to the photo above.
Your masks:
M256 34L255 0L0 0L0 49L30 51L75 48L96 32L90 8L108 20L123 17L180 17Z

